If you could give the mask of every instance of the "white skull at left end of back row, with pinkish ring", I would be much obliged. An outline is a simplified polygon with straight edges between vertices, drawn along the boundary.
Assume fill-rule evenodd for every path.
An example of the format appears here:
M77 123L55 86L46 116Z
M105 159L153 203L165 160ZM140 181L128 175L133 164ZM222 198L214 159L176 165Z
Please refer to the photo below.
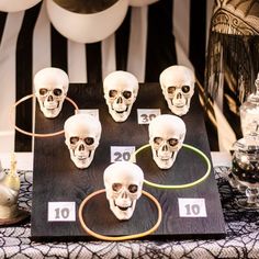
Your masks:
M59 114L68 86L68 76L59 68L47 67L34 76L35 95L45 117L56 117Z

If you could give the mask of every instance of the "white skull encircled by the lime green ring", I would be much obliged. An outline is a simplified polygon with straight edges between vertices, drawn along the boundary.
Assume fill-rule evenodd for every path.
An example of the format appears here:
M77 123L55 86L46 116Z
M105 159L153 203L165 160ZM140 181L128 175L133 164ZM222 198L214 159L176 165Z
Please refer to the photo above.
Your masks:
M160 169L169 169L182 147L185 123L176 115L158 115L149 123L148 133L153 159Z

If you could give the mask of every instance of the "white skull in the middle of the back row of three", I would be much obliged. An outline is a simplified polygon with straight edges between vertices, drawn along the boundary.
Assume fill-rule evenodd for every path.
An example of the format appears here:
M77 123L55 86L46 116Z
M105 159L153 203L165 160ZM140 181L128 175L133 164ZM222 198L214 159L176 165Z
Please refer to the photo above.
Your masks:
M109 113L113 120L126 121L137 98L137 78L126 71L111 72L104 78L103 90Z

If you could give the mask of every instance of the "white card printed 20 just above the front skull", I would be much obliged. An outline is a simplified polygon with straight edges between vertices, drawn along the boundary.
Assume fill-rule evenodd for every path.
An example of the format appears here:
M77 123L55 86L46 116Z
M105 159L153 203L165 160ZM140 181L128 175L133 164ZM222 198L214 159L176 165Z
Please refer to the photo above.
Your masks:
M130 161L135 150L134 146L111 146L111 162ZM132 161L136 161L135 157L133 157Z

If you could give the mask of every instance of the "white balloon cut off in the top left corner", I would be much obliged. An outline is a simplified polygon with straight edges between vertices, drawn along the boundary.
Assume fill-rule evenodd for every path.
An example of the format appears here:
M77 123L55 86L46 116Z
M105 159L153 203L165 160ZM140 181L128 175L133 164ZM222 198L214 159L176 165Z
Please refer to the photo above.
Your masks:
M18 12L34 7L42 0L0 0L0 11Z

